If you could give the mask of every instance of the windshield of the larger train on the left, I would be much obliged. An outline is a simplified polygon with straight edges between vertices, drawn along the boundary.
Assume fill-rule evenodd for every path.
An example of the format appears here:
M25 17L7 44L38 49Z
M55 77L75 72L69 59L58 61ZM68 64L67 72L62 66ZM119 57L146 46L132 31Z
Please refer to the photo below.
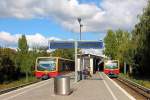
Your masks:
M37 70L39 71L55 71L56 59L43 58L38 60Z

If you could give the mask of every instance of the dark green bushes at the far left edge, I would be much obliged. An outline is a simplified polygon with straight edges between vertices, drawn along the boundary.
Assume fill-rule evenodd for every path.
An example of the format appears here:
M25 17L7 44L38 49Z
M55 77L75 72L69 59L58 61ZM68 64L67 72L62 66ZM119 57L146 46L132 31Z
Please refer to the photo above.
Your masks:
M0 83L19 78L20 69L15 65L16 52L9 48L0 48Z

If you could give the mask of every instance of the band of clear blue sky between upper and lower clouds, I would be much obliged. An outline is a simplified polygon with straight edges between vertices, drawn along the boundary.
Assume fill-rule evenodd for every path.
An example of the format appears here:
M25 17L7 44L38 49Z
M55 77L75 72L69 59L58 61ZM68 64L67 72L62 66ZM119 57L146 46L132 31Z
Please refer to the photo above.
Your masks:
M42 33L46 37L58 37L61 39L79 39L79 33L64 29L52 19L16 19L4 18L0 19L0 30L10 32L12 34L34 34ZM100 40L103 39L102 33L82 33L84 40Z

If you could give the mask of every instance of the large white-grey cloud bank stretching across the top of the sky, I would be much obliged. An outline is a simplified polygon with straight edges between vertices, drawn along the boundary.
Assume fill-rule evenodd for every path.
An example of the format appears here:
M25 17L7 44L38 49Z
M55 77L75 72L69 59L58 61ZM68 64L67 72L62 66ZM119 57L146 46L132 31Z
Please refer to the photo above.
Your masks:
M1 0L0 17L53 18L68 30L77 32L82 18L83 31L130 30L147 0L100 0L99 6L77 0Z

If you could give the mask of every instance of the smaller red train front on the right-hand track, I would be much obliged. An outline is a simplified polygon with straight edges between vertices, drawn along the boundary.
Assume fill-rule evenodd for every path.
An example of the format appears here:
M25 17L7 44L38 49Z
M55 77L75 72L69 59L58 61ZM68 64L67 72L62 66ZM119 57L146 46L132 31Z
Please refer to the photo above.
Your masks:
M109 77L118 77L119 71L119 60L107 60L104 62L104 73Z

